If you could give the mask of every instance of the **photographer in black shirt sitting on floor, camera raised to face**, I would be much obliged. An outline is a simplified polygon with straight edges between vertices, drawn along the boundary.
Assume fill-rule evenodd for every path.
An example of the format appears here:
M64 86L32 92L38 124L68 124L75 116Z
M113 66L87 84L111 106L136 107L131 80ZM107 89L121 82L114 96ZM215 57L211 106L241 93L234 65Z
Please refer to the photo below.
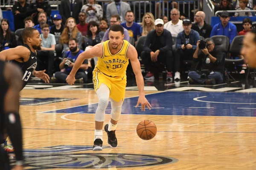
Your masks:
M189 71L189 84L198 82L215 85L223 82L223 55L218 48L215 48L212 38L207 38L205 41L198 40L192 65L197 65L199 69Z

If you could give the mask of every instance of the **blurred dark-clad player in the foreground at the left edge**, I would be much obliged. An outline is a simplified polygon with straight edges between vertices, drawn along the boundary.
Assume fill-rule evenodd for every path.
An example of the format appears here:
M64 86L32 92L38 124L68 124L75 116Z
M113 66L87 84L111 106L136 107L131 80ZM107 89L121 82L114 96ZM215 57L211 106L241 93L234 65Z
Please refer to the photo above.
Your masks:
M14 64L0 61L0 131L3 130L3 127L6 128L15 147L15 170L23 170L22 131L19 116L21 78L20 68ZM3 140L1 133L0 140ZM0 169L11 170L7 153L3 147L0 147Z

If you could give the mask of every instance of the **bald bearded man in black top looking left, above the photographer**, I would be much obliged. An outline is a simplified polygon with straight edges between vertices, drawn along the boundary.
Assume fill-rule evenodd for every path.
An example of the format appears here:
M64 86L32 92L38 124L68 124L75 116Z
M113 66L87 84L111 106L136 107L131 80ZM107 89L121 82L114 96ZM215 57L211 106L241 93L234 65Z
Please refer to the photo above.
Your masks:
M198 11L195 13L194 21L195 23L192 25L192 29L198 31L199 35L204 38L209 38L212 31L212 26L207 24L204 20L205 13L204 11Z

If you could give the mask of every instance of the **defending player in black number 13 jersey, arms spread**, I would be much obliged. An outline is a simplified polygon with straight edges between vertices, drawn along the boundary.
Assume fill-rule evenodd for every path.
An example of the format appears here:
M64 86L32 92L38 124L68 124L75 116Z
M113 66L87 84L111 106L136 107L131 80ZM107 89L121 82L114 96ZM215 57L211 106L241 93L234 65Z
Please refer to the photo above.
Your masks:
M21 37L23 39L24 45L17 46L16 48L9 48L0 52L0 59L12 60L15 64L20 66L20 69L23 72L23 83L19 89L20 91L29 82L32 75L43 79L44 82L49 83L49 76L44 73L45 70L35 71L37 66L36 50L41 50L42 42L38 30L31 27L24 28ZM5 139L7 138L6 135L3 137ZM0 143L2 143L2 141L0 141ZM12 146L7 144L7 140L3 141L3 147L7 152L13 152Z

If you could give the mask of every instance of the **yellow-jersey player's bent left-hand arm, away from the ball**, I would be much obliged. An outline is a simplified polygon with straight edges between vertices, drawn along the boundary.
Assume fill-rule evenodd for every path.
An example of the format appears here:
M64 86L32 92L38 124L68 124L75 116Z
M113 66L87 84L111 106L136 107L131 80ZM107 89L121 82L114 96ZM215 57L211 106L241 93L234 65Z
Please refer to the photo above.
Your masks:
M97 45L94 45L93 48L90 48L90 49L82 52L81 54L79 54L79 56L76 59L75 64L73 65L73 68L72 68L70 74L68 75L68 77L66 79L67 83L69 85L74 84L76 72L83 64L84 59L91 59L93 57L102 57L102 55L103 55L102 50L103 50L102 43L99 43Z

